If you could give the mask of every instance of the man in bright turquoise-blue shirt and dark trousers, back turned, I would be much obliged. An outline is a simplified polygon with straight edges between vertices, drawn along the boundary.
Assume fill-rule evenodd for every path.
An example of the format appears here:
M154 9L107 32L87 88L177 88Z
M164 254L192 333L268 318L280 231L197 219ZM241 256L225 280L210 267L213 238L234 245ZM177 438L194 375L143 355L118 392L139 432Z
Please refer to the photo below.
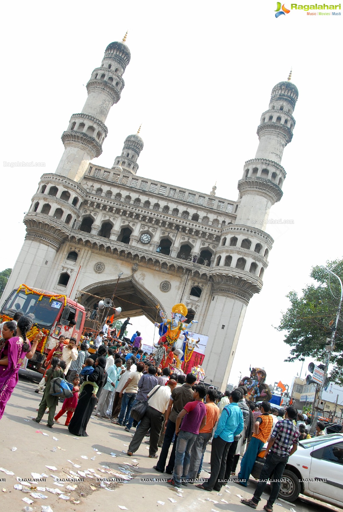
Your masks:
M221 480L225 477L228 449L244 427L243 414L237 402L241 399L240 391L234 390L229 397L230 403L224 407L214 433L211 449L211 476L207 482L197 485L200 489L220 491Z

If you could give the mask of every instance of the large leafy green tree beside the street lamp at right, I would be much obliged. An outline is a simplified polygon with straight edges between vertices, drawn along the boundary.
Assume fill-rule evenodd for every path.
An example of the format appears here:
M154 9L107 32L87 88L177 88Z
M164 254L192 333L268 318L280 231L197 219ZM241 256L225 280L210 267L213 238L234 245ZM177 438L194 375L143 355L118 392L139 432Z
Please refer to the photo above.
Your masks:
M343 260L327 262L332 272L343 280ZM286 295L291 306L282 314L281 323L276 329L287 331L285 343L290 345L290 355L286 361L303 361L304 357L313 357L325 364L327 351L326 338L331 338L336 320L340 298L340 285L333 275L321 267L313 267L311 278L318 284L308 285L299 296L295 291ZM330 363L333 370L330 380L343 385L343 324L342 316L338 321L335 348Z

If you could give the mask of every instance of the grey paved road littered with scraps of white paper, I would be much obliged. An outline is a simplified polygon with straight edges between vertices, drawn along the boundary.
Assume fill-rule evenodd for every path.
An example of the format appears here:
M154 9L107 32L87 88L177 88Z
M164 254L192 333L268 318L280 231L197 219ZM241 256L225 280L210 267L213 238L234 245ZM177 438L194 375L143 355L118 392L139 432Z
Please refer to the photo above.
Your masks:
M2 427L2 448L1 465L14 475L0 473L2 481L1 488L6 489L0 493L1 509L8 512L17 512L21 510L26 503L22 498L28 497L33 500L32 507L40 512L41 505L50 505L53 512L66 512L67 510L82 510L82 512L102 512L103 510L118 510L119 505L126 507L129 511L136 512L143 510L156 510L160 512L186 512L195 507L199 512L247 512L248 507L240 503L240 496L250 497L255 488L255 481L250 481L247 489L231 483L229 488L222 488L218 496L217 493L207 493L196 487L189 485L182 488L179 495L175 489L165 482L144 482L141 479L167 478L167 475L161 475L153 470L155 461L148 458L147 445L142 444L138 452L129 458L123 451L127 451L127 445L131 440L131 434L124 431L118 425L112 425L106 420L92 418L89 421L87 438L74 438L70 435L64 425L55 425L53 430L48 429L45 422L37 425L31 420L36 415L41 394L34 393L35 382L40 380L40 375L30 372L30 374L20 374L19 382L15 388L10 401L7 404L5 415L1 420ZM29 421L25 421L29 420ZM36 432L40 431L40 432ZM44 436L44 434L48 434ZM57 440L53 439L53 436ZM12 452L12 447L17 450ZM96 453L95 449L98 450ZM116 457L111 457L115 453ZM81 456L87 457L87 459ZM94 460L92 458L95 457ZM75 467L68 462L80 467ZM204 470L210 470L209 466L210 452L205 454ZM131 470L133 478L127 483L112 484L102 483L108 489L102 488L100 482L95 478L89 478L95 474L102 478L113 478L117 475L127 477L125 472L119 470L123 464L138 462L138 467L127 466L126 470ZM57 469L49 470L46 465L55 466ZM107 466L107 468L103 467ZM84 475L84 481L63 482L63 487L58 487L50 475L66 479L67 476L73 477L69 472L93 470ZM102 472L112 473L102 473ZM31 473L45 473L48 475L46 483L36 483L37 486L49 487L62 490L64 495L70 499L64 501L58 498L58 495L48 492L46 489L41 492L47 499L34 498L30 494L25 494L20 490L14 489L17 484L16 477L22 479L31 479ZM207 472L203 471L202 478L207 477ZM78 475L77 475L78 476ZM82 476L81 476L82 477ZM80 478L81 478L80 477ZM73 477L74 478L74 477ZM66 485L77 485L75 490L68 490ZM117 486L117 487L116 487ZM92 488L93 487L93 488ZM238 496L239 495L239 496ZM266 498L266 495L262 498ZM214 500L208 501L209 499ZM173 500L173 501L171 501ZM221 501L224 500L224 501ZM159 504L158 501L164 504ZM77 503L79 502L79 503ZM227 502L227 503L226 503ZM341 510L337 507L330 507L316 500L298 499L295 503L289 504L277 500L279 505L274 506L275 512L327 512L331 510ZM258 506L262 510L265 500L263 499Z

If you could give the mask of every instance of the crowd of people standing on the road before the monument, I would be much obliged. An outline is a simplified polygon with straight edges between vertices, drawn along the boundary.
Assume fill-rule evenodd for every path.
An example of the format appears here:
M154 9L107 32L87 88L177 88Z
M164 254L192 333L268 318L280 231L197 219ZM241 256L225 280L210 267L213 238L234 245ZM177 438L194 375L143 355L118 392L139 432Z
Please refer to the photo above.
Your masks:
M31 326L32 321L22 315L0 326L0 418L18 381L20 362L25 356L33 356L40 339L37 335L32 347L26 340ZM126 432L134 428L127 455L132 456L143 442L149 444L149 458L156 459L154 470L166 472L168 483L175 487L197 483L205 450L211 446L210 477L197 483L208 492L219 492L236 476L240 456L236 481L246 486L256 457L267 443L255 493L241 501L256 508L273 475L275 483L264 506L266 512L271 512L288 457L299 440L309 437L309 418L292 406L271 409L269 402L251 402L246 399L245 386L222 394L198 383L193 373L185 375L164 365L167 357L161 346L157 345L154 354L143 352L139 331L128 343L128 338L121 341L113 336L111 327L107 321L94 340L85 335L78 347L75 338L59 337L35 390L43 396L33 420L39 423L48 409L47 425L53 428L54 422L59 423L66 414L68 431L87 436L88 421L96 410L96 416L110 420L115 428ZM58 378L70 383L71 396L62 400L56 414L59 398L51 394L51 386ZM323 435L324 428L319 421L315 435Z

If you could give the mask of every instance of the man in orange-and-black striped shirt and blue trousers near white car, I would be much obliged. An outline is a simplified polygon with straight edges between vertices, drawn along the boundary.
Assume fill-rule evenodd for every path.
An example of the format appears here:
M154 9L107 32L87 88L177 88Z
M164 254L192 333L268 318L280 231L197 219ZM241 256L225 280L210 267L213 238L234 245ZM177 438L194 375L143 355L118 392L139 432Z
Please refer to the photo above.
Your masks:
M239 485L243 487L247 486L247 480L249 479L251 471L255 464L257 454L261 450L264 443L269 439L271 429L273 426L272 416L269 415L270 403L262 402L261 412L262 416L259 416L255 422L255 432L249 442L245 454L241 460L241 469L238 473Z

